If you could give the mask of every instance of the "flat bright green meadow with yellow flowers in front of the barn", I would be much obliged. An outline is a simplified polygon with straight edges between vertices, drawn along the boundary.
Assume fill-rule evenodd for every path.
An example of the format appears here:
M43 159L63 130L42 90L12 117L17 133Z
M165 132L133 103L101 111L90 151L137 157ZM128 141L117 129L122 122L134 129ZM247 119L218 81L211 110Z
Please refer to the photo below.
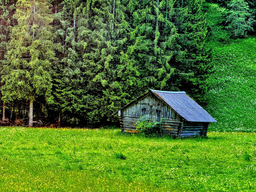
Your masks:
M256 190L256 133L0 128L0 191Z

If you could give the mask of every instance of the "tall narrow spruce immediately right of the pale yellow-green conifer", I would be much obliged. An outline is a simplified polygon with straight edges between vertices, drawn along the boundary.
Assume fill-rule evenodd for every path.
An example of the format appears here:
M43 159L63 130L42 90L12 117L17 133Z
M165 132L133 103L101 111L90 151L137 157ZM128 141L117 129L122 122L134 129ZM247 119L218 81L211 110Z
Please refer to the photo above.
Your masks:
M63 1L61 10L55 14L59 26L55 26L55 53L58 60L53 63L55 70L53 81L54 105L51 110L58 111L59 123L63 119L71 124L82 120L82 101L84 80L82 77L82 54L86 47L80 36L79 28L86 22L82 15L82 1Z

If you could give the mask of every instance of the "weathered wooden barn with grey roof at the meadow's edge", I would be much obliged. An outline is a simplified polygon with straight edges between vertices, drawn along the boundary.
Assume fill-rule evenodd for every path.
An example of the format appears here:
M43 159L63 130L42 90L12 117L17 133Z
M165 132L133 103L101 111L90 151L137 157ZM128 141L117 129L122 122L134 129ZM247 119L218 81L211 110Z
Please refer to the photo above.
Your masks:
M123 132L138 132L137 120L146 116L147 120L161 120L162 133L177 137L206 136L209 123L217 122L183 91L148 90L114 115L120 116Z

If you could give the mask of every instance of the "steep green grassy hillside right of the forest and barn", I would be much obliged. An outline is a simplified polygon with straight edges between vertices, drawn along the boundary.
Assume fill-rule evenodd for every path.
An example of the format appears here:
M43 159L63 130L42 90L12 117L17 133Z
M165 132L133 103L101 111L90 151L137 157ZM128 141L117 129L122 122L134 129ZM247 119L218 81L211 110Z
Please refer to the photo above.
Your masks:
M212 131L256 131L256 38L230 39L225 8L206 4L211 29L214 73L210 75L207 111L218 120Z

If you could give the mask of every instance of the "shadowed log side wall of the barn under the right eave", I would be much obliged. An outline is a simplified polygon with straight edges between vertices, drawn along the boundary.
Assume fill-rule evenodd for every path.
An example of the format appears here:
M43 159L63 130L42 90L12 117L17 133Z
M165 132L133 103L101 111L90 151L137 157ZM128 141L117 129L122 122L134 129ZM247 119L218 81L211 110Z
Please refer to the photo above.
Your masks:
M209 123L184 121L181 137L206 136Z

